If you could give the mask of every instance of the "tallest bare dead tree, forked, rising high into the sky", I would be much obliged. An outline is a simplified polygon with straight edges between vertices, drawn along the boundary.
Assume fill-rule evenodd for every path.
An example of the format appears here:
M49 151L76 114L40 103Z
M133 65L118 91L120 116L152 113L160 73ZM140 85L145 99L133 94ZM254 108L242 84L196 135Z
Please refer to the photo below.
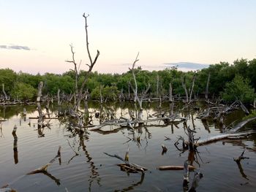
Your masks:
M86 82L89 79L89 74L91 73L91 71L94 67L94 64L96 64L97 59L99 58L99 50L97 50L97 55L95 56L94 60L92 60L92 58L91 58L91 53L90 53L90 50L89 50L89 37L88 37L88 24L87 24L87 18L88 17L89 17L89 15L86 15L85 13L83 13L83 18L85 20L85 28L86 28L86 50L87 50L87 53L88 53L88 56L89 56L90 64L86 64L87 66L89 66L89 69L86 72L86 77L83 80L83 83L80 87L80 90L78 91L78 99L77 99L77 102L75 104L74 110L78 110L78 107L80 106L80 101L82 101L82 99L85 96L85 94L83 94L83 91L84 91Z

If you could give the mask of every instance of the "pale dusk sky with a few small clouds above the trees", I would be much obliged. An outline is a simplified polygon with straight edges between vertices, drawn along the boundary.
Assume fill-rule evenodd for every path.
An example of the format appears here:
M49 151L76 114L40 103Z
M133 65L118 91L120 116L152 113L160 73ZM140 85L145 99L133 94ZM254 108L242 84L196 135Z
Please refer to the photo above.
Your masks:
M61 74L75 51L87 70L85 12L94 71L200 69L256 58L255 0L0 0L0 69ZM202 64L202 66L200 66Z

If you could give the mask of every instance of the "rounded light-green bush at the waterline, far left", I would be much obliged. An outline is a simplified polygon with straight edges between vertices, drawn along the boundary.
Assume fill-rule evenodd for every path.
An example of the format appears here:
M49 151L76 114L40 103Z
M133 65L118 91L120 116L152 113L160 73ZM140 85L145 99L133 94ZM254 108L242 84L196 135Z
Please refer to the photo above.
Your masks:
M20 100L33 99L36 94L37 90L24 82L17 82L15 88L11 91L12 98Z

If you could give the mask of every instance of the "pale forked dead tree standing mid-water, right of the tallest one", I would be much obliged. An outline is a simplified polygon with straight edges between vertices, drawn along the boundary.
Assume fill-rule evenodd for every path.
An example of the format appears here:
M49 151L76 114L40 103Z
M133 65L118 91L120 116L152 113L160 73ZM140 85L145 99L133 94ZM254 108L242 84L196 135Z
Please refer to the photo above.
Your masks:
M133 80L135 82L135 87L133 87L131 83L129 85L132 88L132 91L134 93L134 101L135 102L138 101L138 104L140 106L140 110L143 110L143 108L142 108L142 101L143 101L144 97L146 96L146 93L148 93L151 85L148 83L146 91L143 91L143 93L141 93L141 96L139 98L139 96L138 96L138 85L137 85L137 80L136 80L136 77L135 77L135 64L136 64L137 61L139 61L139 59L138 59L139 54L140 53L137 54L137 56L135 58L135 61L132 64L132 69L129 68L129 70L132 72L132 77L133 77Z

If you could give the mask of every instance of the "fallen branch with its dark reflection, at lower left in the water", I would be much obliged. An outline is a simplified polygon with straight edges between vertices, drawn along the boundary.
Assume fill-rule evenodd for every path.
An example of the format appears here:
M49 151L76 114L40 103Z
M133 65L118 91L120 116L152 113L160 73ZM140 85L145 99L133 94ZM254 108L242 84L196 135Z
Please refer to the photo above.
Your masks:
M35 169L34 171L32 172L29 172L27 174L37 174L37 173L42 173L42 174L45 174L47 175L48 177L50 177L50 179L54 180L56 182L57 185L60 185L60 180L57 179L56 177L54 177L52 174L48 173L48 166L50 166L51 164L53 164L54 161L56 161L56 159L59 158L59 164L61 164L61 146L59 146L59 150L57 152L57 155L49 161L48 164L45 164L44 166L41 166L40 168L38 169Z

